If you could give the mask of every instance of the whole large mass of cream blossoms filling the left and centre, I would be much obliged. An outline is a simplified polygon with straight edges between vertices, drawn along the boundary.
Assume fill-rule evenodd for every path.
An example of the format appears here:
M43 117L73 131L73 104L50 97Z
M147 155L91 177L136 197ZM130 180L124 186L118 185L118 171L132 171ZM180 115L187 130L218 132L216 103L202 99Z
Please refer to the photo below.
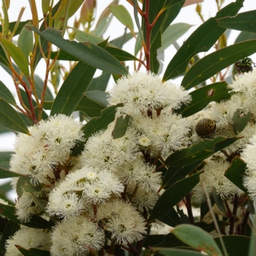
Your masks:
M150 72L123 77L110 94L110 104L124 104L116 116L131 116L122 138L114 140L113 122L93 134L82 154L73 157L72 148L84 141L84 134L81 123L65 115L29 127L29 136L17 136L11 170L30 180L13 180L13 186L22 189L17 216L26 222L46 212L56 223L52 230L19 230L8 239L6 255L21 255L18 244L50 250L52 256L82 256L102 249L108 239L130 244L145 236L143 214L156 204L161 185L161 172L150 157L187 147L189 123L173 109L190 97ZM33 193L29 186L35 187ZM47 241L38 239L39 233Z

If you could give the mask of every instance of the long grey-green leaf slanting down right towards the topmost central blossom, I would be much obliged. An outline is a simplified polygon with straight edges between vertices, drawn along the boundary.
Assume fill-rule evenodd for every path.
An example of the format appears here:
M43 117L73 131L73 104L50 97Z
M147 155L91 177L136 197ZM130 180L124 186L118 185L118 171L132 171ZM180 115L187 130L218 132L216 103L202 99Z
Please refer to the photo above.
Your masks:
M124 75L128 73L127 69L116 58L95 44L90 42L82 44L65 40L61 36L61 32L53 28L47 28L44 32L40 32L35 26L29 26L29 28L63 51L92 67L114 74Z

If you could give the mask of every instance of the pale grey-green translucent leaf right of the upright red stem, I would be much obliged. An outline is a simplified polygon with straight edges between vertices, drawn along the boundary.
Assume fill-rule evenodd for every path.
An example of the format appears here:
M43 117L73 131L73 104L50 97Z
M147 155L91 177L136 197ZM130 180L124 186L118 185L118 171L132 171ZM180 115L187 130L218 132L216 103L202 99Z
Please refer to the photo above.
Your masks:
M169 26L162 35L162 46L159 51L164 51L167 47L184 35L192 25L186 23L176 23Z

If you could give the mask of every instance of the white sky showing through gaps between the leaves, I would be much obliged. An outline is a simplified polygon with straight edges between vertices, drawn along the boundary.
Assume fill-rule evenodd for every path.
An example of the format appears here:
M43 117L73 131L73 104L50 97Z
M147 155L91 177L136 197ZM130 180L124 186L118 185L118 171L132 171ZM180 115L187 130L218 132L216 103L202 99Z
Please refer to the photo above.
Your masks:
M157 0L156 0L157 1ZM54 1L54 3L57 3L58 1ZM96 21L99 19L100 14L102 11L108 6L109 3L111 3L111 0L97 0L97 13L96 13ZM225 3L223 6L232 3L233 1L231 0L225 0ZM1 6L2 6L2 1L0 1ZM41 9L41 0L36 0L36 4L38 6L38 16L39 19L42 18L42 9ZM118 4L122 4L127 8L129 13L133 16L133 8L131 4L127 3L125 0L119 0ZM255 10L256 9L256 0L244 0L244 7L241 8L240 12L247 12L249 10ZM22 20L28 20L31 19L31 12L29 8L29 2L28 0L10 0L10 9L8 10L9 13L9 19L10 22L15 21L19 15L20 9L22 6L26 6L26 10L22 16ZM179 13L178 17L173 21L172 24L179 23L179 22L184 22L188 23L192 26L189 31L184 34L177 42L179 45L182 45L182 42L188 38L193 31L195 31L200 24L202 24L202 20L198 17L198 15L195 12L196 4L193 4L191 6L186 6L185 8L182 8L181 12ZM0 10L1 15L3 16L3 11ZM214 17L216 15L217 8L216 8L216 0L204 0L204 3L202 3L202 13L204 13L204 19L207 20L209 17ZM70 22L68 22L69 26L72 26L74 22L74 17L70 19ZM134 22L134 28L136 28L136 24ZM124 25L122 25L115 17L112 19L111 24L104 33L104 39L110 36L109 41L113 40L114 38L123 35L124 34ZM136 29L138 31L138 29ZM234 40L236 40L237 35L239 34L239 31L232 31L230 33L230 36L228 38L228 45L233 44ZM132 39L127 44L124 45L123 49L127 52L131 52L132 54L134 53L134 45L135 45L135 40ZM167 67L168 63L174 56L176 50L171 45L166 49L165 51L165 60L164 60L164 70ZM205 53L202 53L201 56L204 56ZM256 62L256 54L253 54L252 59ZM133 66L133 62L129 61L131 64L131 68ZM129 63L127 62L127 64ZM38 67L36 68L36 74L38 74L41 77L44 77L44 72L45 70L45 64L44 61L40 61ZM1 81L3 81L4 84L6 84L12 92L15 92L14 90L14 85L11 77L6 74L6 72L0 67L0 74L1 74ZM100 75L100 71L97 71L96 73L97 76ZM161 74L163 76L163 74ZM161 76L160 75L160 76ZM179 84L181 81L181 78L179 77L178 79L175 79L175 83ZM109 86L112 86L113 80L109 81ZM15 141L15 134L13 132L6 132L5 134L0 134L0 151L12 151L13 150L13 143ZM7 180L1 180L0 182L6 182Z

